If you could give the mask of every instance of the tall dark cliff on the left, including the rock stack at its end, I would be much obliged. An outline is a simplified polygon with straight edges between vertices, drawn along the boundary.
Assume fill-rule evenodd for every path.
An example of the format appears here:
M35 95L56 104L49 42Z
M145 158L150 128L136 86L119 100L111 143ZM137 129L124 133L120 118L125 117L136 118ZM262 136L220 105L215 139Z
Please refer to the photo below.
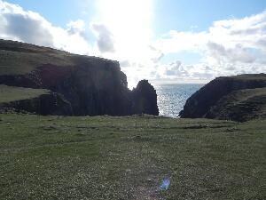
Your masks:
M0 84L59 93L71 104L69 115L158 115L153 86L131 92L117 61L4 40L0 58ZM145 107L136 106L140 99Z

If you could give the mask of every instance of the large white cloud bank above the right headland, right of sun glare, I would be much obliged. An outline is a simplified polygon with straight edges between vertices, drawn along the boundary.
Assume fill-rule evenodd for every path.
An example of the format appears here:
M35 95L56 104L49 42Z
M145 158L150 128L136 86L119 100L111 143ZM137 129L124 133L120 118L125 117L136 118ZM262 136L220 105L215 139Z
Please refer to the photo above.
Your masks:
M207 31L172 30L154 46L165 54L198 52L202 59L189 70L192 79L266 72L266 11L243 19L215 21ZM162 68L168 70L169 66ZM168 77L180 77L182 68L170 68Z

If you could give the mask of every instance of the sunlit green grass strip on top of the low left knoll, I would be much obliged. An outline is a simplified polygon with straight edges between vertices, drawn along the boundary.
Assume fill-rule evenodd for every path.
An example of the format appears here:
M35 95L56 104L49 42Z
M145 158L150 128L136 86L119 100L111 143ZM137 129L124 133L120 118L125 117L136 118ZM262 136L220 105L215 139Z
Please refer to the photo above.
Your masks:
M29 100L47 93L49 93L49 91L44 89L12 87L0 84L0 103L7 103L16 100Z

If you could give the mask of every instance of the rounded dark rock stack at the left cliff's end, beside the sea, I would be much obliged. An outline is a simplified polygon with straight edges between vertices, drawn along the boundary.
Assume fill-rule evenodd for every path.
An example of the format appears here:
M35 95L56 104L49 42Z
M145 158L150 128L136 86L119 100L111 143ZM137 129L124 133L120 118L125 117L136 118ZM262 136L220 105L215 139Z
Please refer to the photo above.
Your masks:
M133 113L145 113L153 116L159 115L157 107L157 94L152 84L147 80L142 80L137 84L137 88L132 91Z

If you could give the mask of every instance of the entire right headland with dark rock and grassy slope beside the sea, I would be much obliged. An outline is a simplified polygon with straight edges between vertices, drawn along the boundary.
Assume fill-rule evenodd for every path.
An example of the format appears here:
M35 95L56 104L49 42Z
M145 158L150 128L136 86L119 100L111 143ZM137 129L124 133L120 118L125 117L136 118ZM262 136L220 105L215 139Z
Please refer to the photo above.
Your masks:
M224 76L190 97L179 116L246 121L266 116L266 75Z

